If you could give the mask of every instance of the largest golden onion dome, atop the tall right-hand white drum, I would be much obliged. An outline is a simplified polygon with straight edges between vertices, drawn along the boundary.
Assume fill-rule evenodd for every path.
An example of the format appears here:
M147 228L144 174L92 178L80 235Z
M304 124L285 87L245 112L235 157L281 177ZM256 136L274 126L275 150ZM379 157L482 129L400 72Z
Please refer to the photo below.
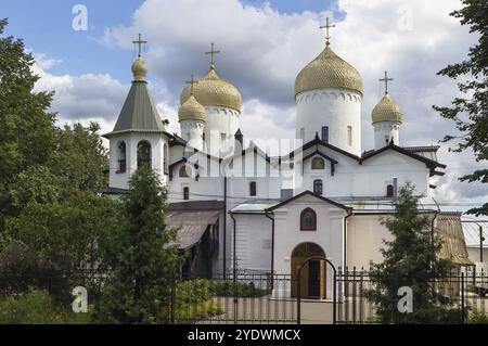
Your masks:
M359 72L335 54L329 44L296 77L295 95L304 91L323 88L350 89L360 94L363 91Z

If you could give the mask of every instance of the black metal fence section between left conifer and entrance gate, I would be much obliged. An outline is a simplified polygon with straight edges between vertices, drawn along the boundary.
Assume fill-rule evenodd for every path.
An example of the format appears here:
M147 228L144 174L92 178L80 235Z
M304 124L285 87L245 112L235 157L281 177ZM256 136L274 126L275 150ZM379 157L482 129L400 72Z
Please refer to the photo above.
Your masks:
M171 297L171 323L296 323L290 275L239 274L179 278Z

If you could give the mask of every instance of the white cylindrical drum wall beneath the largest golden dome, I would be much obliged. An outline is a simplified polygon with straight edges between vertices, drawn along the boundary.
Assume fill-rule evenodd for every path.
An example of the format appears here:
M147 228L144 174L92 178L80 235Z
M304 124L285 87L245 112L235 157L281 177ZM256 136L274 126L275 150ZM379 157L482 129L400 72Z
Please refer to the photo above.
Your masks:
M342 88L310 90L296 97L296 138L307 143L329 126L329 142L355 155L361 154L361 100L360 93ZM348 129L351 127L351 141Z

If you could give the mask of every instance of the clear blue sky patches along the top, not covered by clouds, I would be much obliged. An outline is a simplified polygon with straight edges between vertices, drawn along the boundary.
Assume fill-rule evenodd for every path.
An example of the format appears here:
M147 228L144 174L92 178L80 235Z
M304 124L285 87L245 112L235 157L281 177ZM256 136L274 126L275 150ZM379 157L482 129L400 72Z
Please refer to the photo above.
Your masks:
M127 26L143 0L2 0L0 17L9 18L8 33L23 38L28 49L49 57L62 60L51 68L57 75L81 75L87 73L110 74L123 82L130 81L127 66L136 50L131 52L100 43L108 27ZM264 7L269 3L280 13L320 12L334 1L324 0L242 0L245 5ZM75 31L72 13L76 4L88 9L89 28Z

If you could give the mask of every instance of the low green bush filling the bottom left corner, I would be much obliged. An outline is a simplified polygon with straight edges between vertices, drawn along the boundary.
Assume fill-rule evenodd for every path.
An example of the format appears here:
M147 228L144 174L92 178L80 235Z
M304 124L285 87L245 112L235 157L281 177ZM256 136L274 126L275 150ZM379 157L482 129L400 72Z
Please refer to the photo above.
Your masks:
M0 300L0 324L87 324L89 313L75 313L54 305L46 291L31 290Z

